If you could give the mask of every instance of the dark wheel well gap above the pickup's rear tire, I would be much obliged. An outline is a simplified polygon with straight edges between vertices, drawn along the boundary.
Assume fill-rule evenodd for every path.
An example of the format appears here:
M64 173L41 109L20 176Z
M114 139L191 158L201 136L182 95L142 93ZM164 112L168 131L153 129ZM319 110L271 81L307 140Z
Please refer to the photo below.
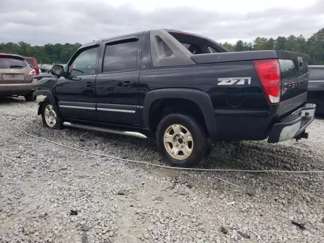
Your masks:
M197 103L179 98L157 99L153 101L149 111L150 130L155 134L159 121L166 115L172 113L192 115L204 128L206 134L208 134L203 112L201 112Z

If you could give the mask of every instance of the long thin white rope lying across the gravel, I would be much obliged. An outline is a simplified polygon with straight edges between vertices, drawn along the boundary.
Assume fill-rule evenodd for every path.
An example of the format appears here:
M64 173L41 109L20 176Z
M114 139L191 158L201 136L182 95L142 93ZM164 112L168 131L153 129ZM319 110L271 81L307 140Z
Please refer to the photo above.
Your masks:
M19 117L17 115L13 115L13 114L6 114L6 115L12 115L12 116L16 116ZM11 124L12 125L12 124ZM138 163L138 164L144 164L144 165L149 165L149 166L154 166L154 167L159 167L159 168L165 168L165 169L175 169L175 170L190 170L190 171L211 171L211 172L249 172L249 173L294 173L294 174L310 174L310 173L314 173L314 174L324 174L324 171L281 171L281 170L235 170L235 169L201 169L201 168L183 168L183 167L171 167L171 166L162 166L162 165L156 165L156 164L152 164L149 162L145 162L145 161L140 161L140 160L133 160L133 159L127 159L127 158L119 158L119 157L115 157L112 155L107 155L107 154L102 154L102 153L95 153L95 152L90 152L90 151L86 151L83 149L78 149L78 148L73 148L71 146L67 146L52 140L49 140L47 138L43 138L43 137L38 137L38 136L34 136L32 134L27 133L26 131L22 130L19 128L18 123L16 123L16 129L19 130L20 132L26 134L27 136L36 138L36 139L41 139L65 148L69 148L75 151L79 151L79 152L84 152L84 153L89 153L89 154L93 154L93 155L99 155L99 156L104 156L104 157L109 157L112 159L116 159L116 160L121 160L121 161L126 161L126 162L131 162L131 163ZM232 186L235 186L237 188L241 188L238 185L235 185L233 183L230 183L222 178L218 178L218 180L226 182Z

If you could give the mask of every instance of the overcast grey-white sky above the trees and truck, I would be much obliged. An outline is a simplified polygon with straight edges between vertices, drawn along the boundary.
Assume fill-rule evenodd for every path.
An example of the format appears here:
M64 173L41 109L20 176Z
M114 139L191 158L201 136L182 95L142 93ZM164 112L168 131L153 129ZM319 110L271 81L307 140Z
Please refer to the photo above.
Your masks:
M82 43L171 28L218 42L324 27L324 0L0 0L0 43Z

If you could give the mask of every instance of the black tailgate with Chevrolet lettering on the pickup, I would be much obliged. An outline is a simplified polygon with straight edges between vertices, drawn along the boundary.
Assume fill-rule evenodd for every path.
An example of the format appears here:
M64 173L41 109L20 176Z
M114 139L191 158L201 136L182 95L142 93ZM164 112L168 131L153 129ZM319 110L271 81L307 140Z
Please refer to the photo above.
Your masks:
M277 51L280 74L280 115L299 108L307 100L308 56L297 52Z

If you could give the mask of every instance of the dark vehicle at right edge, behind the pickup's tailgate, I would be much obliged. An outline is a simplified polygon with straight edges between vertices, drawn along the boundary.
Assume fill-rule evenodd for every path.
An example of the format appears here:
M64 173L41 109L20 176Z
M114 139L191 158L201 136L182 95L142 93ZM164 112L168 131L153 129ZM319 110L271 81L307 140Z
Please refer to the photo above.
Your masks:
M309 85L307 102L316 104L316 114L324 114L324 65L308 66Z

